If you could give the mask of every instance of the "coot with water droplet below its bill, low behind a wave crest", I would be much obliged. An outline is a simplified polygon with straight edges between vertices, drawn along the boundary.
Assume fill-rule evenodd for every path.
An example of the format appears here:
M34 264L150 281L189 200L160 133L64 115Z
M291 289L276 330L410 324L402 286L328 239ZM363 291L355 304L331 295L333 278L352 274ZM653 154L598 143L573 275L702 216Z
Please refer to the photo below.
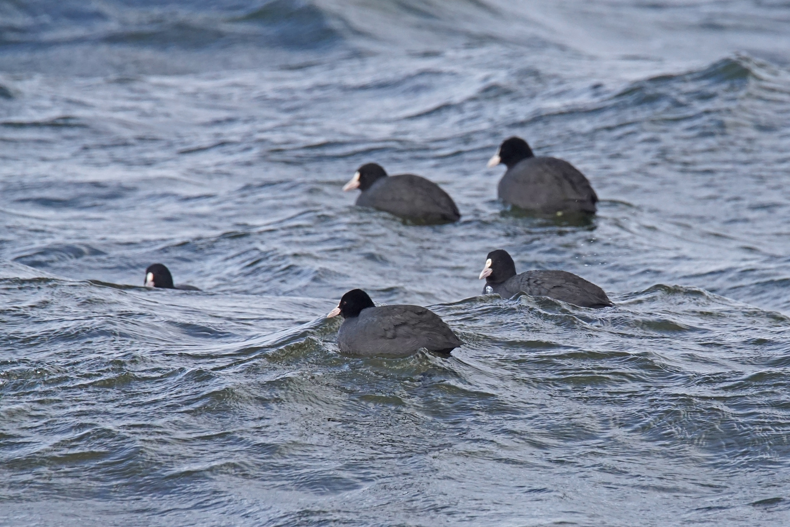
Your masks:
M510 298L518 292L548 296L581 307L609 307L614 304L603 289L567 271L527 271L516 274L516 264L506 250L488 253L480 280L486 279L483 294L498 293Z

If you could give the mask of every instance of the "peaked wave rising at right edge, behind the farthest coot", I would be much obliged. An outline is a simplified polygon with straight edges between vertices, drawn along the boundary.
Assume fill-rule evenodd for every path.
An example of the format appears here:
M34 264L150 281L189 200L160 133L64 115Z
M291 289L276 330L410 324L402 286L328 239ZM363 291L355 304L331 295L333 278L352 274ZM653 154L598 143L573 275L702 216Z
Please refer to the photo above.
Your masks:
M652 126L682 127L686 137L713 137L747 129L776 132L788 127L784 112L759 108L790 101L790 75L750 55L732 55L683 73L632 81L610 92L592 92L556 107L539 102L511 126L541 126L547 120L581 119L589 131L642 137ZM452 107L464 107L464 101ZM442 108L446 110L446 108ZM430 114L430 112L429 112Z

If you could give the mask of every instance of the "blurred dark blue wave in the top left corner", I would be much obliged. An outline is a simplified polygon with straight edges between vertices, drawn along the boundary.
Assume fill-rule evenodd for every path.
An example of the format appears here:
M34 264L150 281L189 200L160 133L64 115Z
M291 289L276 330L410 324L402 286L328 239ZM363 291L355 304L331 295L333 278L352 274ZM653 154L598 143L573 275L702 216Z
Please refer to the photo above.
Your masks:
M304 0L273 0L245 11L236 3L0 2L0 46L109 43L201 48L246 43L310 48L343 37L328 13Z

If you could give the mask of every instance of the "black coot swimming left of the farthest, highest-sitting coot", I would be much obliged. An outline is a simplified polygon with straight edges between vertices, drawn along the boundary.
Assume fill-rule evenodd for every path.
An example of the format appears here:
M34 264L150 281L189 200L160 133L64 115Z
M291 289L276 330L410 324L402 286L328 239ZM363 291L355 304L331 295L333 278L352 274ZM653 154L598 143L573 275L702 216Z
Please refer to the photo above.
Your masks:
M419 175L388 176L375 163L363 164L343 190L362 190L356 205L424 224L443 224L461 218L453 198L436 183Z

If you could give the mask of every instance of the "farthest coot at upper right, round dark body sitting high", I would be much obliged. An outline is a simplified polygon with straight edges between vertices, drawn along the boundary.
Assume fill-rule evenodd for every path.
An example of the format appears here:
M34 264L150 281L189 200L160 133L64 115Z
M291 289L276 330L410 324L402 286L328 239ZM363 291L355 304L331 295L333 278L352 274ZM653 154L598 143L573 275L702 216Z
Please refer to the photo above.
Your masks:
M585 175L556 157L536 157L527 141L510 137L488 161L504 163L498 196L519 209L560 216L562 213L595 213L598 196Z

